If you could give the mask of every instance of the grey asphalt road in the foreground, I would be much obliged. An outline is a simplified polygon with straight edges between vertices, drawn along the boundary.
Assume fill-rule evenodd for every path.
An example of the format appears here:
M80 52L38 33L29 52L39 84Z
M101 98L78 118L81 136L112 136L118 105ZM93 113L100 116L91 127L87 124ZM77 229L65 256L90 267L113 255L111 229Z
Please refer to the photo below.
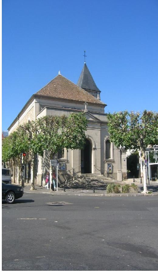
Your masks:
M158 270L158 196L2 201L2 270Z

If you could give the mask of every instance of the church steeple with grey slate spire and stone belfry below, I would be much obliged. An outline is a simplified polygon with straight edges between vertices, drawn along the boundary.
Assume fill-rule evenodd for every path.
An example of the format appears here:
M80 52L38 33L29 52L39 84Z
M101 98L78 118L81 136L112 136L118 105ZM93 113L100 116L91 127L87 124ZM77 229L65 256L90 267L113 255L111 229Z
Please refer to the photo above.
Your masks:
M77 85L84 89L85 91L88 91L96 98L100 99L100 90L98 89L97 85L94 82L94 79L92 78L92 75L90 71L88 70L88 67L86 63L84 63L84 67L82 69L82 72L80 74L80 78L77 82Z

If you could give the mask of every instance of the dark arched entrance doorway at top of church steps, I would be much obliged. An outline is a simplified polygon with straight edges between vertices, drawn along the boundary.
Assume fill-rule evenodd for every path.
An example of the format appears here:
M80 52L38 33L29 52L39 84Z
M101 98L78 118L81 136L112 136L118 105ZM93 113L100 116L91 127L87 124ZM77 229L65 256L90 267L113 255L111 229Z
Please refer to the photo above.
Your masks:
M92 143L86 139L84 149L81 149L81 173L91 173Z

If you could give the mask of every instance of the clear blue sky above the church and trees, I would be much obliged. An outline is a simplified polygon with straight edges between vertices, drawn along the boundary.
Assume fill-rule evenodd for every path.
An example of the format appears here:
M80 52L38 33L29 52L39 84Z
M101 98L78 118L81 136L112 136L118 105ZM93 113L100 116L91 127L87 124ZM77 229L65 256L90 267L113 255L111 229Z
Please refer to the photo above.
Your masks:
M158 111L157 0L3 0L2 130L33 93L86 63L105 112Z

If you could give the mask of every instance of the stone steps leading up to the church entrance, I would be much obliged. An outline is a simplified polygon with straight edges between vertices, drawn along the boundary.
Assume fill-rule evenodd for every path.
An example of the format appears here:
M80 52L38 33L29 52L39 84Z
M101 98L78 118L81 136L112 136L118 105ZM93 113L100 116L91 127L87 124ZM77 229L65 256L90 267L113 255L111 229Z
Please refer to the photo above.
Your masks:
M65 185L68 188L73 189L95 188L96 190L106 190L109 183L124 184L102 174L80 174L78 176L74 176L72 180L67 181ZM60 187L63 187L63 185Z

